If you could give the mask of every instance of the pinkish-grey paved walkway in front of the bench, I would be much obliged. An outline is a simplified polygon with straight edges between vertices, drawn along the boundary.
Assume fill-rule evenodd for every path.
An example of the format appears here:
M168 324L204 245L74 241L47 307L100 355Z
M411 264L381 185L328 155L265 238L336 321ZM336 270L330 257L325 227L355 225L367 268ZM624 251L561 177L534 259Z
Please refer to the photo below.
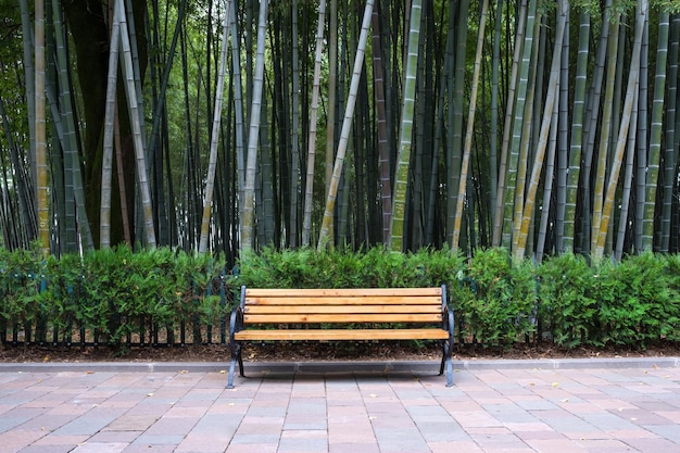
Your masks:
M2 364L0 451L673 453L679 366L247 364L226 390L224 363Z

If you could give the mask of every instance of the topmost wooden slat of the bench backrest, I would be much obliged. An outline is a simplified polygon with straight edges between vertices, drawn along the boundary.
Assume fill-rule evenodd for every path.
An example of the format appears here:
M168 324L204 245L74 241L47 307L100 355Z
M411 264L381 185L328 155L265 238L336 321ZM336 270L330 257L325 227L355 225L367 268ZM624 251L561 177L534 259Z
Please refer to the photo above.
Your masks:
M247 288L247 297L370 297L370 295L439 295L441 288L341 288L341 289L281 289Z

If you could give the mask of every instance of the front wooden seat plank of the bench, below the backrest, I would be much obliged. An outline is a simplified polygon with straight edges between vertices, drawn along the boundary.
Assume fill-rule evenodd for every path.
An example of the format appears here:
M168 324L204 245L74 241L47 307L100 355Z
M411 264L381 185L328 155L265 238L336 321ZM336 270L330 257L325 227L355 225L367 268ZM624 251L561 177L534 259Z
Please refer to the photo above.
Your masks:
M446 340L443 329L289 329L241 330L237 341L249 340Z

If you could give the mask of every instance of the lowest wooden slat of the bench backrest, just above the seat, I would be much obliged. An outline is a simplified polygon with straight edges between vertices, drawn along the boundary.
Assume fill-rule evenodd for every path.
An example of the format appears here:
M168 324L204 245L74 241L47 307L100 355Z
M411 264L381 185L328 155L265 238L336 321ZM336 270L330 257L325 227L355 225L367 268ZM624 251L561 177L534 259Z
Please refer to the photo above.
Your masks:
M440 323L441 313L437 314L272 314L251 315L245 313L245 324L297 324L297 323Z

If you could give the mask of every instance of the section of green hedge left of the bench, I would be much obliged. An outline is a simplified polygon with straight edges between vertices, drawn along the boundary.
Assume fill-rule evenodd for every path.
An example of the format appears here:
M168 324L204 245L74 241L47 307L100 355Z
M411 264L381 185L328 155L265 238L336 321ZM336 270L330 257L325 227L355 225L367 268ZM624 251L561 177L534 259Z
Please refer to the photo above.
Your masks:
M227 313L223 273L222 257L167 248L133 253L118 247L47 261L37 251L0 249L0 316L5 329L35 330L39 341L48 324L65 342L84 330L96 342L119 345L133 334L143 341L156 326L179 323L200 338L200 326L218 324Z

